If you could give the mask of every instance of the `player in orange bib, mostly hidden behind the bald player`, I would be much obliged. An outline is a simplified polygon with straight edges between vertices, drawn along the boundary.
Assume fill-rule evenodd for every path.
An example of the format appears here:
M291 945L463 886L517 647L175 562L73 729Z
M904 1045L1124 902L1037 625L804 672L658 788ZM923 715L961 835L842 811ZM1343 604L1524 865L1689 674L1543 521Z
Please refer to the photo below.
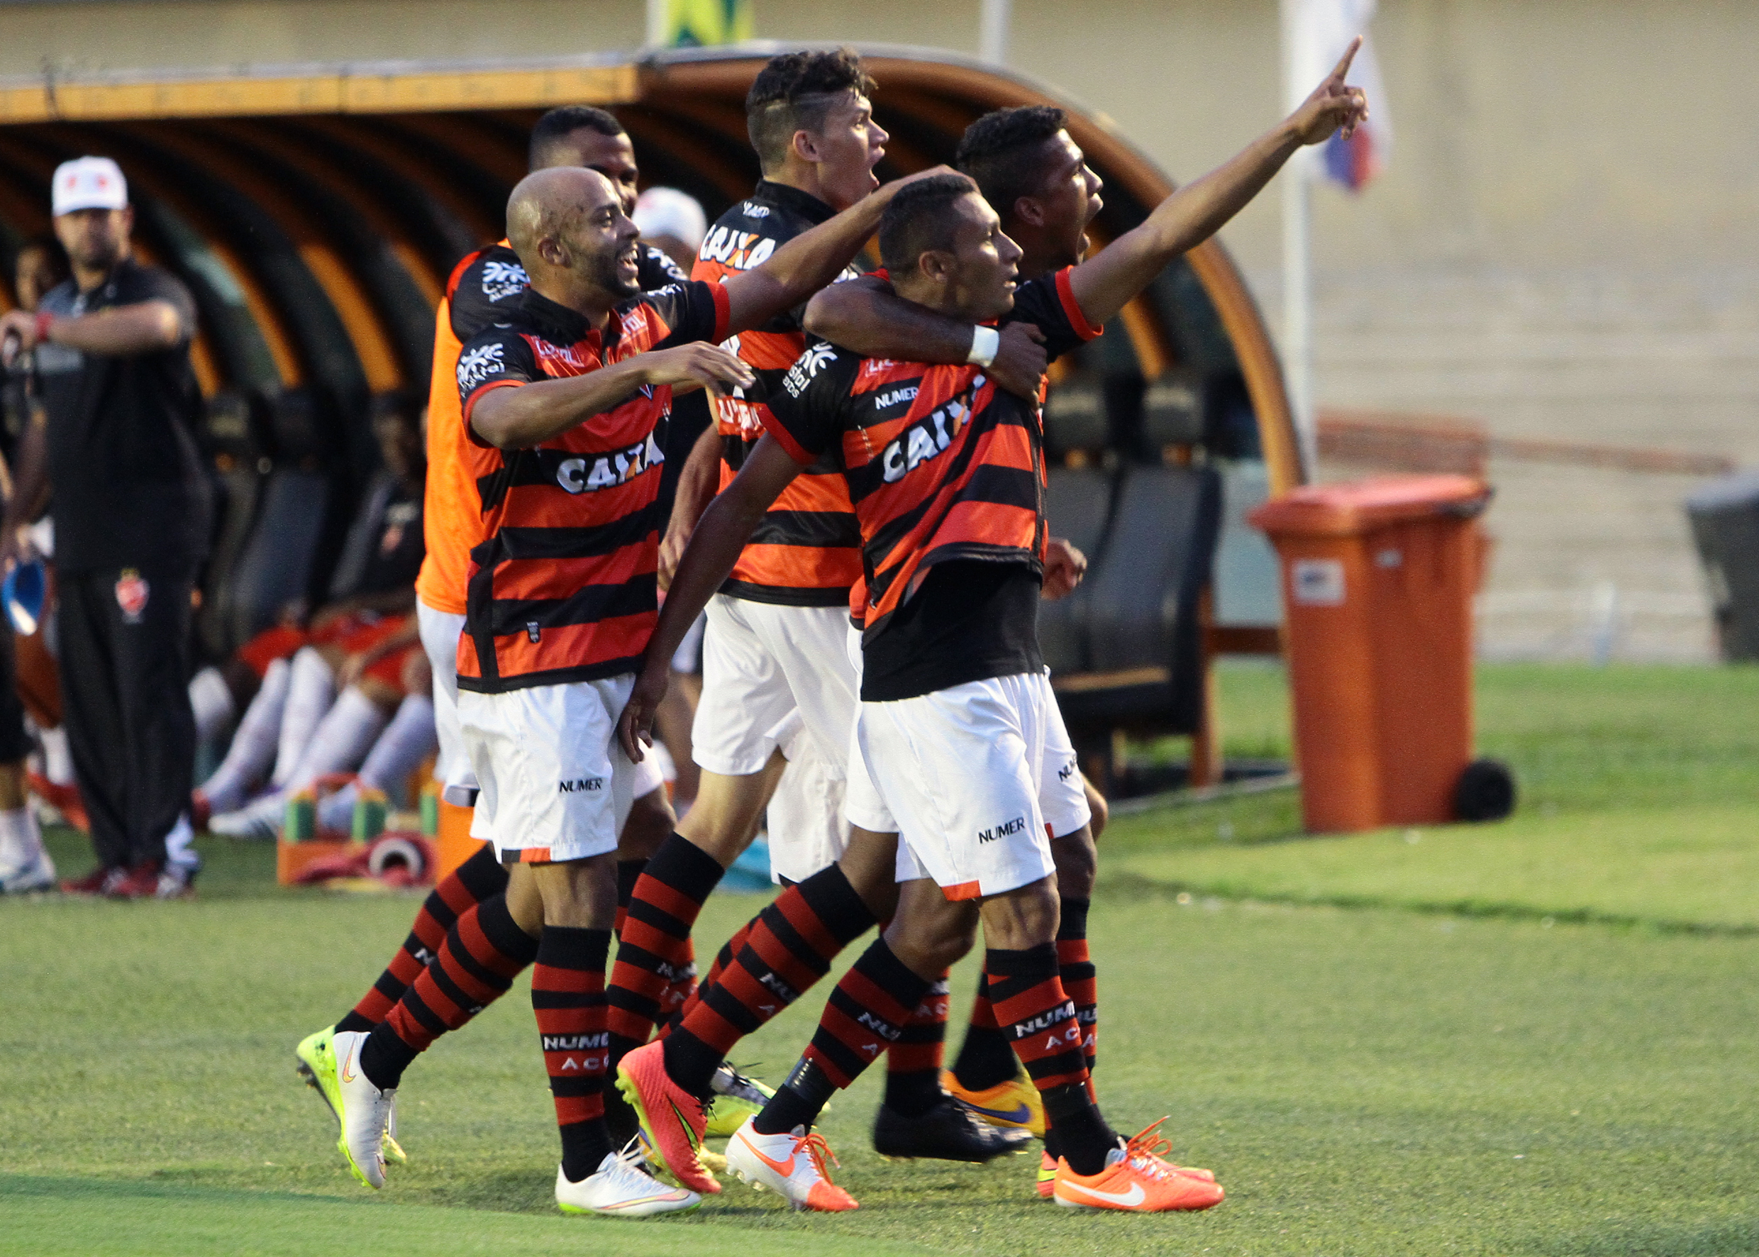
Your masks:
M624 213L635 206L640 176L635 148L623 125L603 109L563 105L538 118L531 128L529 169L551 167L598 171L617 188ZM649 244L637 251L637 276L644 290L665 288L688 278L663 251ZM473 443L464 432L457 355L466 341L507 316L526 283L519 255L503 239L464 257L454 267L434 316L427 489L422 508L426 556L415 580L415 614L434 675L434 724L440 735L434 777L445 786L447 800L464 807L475 802L477 788L457 728L457 640L464 626L470 550L487 536L477 482L494 473L500 454ZM654 765L644 767L635 793L619 846L619 905L628 902L635 877L660 840L672 832L675 819ZM494 847L485 844L427 895L403 946L354 1009L334 1027L317 1030L299 1043L299 1074L332 1111L339 1104L331 1044L334 1032L371 1032L389 1023L382 1032L387 1051L426 1051L438 1035L457 1030L505 993L514 977L531 963L536 939L526 935L508 916L505 890L507 870ZM670 979L663 1000L675 1007L691 990L693 969L688 958ZM730 1071L719 1072L718 1083L749 1095L749 1088ZM387 1150L403 1159L394 1139L387 1143Z

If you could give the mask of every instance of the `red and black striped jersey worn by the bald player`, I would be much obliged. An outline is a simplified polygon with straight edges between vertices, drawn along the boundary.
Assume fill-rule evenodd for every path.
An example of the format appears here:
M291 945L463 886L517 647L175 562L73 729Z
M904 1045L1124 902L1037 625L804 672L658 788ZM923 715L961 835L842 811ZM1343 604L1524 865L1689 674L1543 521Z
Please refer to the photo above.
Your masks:
M603 332L526 290L459 352L466 432L493 389L582 376L647 350L726 336L726 288L675 283L619 304ZM640 666L658 615L660 466L668 385L536 447L496 450L477 482L487 540L470 552L461 689L501 693ZM482 448L475 432L470 440Z

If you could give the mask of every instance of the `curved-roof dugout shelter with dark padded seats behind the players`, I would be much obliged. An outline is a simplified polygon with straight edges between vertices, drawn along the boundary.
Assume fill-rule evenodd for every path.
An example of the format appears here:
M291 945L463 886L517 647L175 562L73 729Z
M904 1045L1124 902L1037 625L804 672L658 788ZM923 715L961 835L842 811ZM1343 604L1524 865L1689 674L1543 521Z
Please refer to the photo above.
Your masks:
M434 304L454 262L501 236L536 116L614 111L644 185L690 192L712 222L758 178L742 100L777 51L0 83L9 272L49 229L55 165L102 153L132 183L141 255L201 306L193 360L227 487L201 614L209 652L324 585L376 457L371 397L427 387ZM892 134L881 178L950 162L989 109L1057 104L1106 183L1096 244L1173 188L1108 120L1050 88L945 51L862 54ZM0 285L0 309L7 297ZM1275 352L1221 244L1170 267L1057 364L1054 385L1050 520L1092 566L1077 596L1043 605L1041 635L1084 767L1106 781L1119 731L1191 733L1193 782L1219 781L1210 659L1277 650L1274 615L1217 624L1212 612L1224 471L1252 468L1272 494L1302 480Z

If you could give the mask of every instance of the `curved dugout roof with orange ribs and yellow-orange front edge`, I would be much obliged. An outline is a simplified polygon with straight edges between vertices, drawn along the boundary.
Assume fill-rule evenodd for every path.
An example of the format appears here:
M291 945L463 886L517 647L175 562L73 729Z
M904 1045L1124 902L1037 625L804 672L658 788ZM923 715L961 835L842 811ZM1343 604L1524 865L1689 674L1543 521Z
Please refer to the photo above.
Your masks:
M359 413L371 392L426 385L433 306L452 264L501 236L540 111L612 109L644 181L691 192L712 220L758 176L742 98L777 51L0 81L0 255L47 230L58 162L111 155L134 188L141 253L183 276L202 308L204 390L318 385ZM1106 181L1101 241L1173 188L1108 120L1043 84L943 51L862 53L892 134L881 178L952 160L987 109L1059 104ZM1182 364L1237 369L1272 490L1300 480L1275 353L1221 244L1170 267L1119 323L1115 343L1149 380Z

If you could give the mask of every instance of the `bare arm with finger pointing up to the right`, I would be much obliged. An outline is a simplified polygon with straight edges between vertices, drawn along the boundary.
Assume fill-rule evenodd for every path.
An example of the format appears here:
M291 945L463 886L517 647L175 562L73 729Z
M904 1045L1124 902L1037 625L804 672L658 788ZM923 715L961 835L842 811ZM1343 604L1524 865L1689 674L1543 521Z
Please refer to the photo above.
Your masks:
M1156 206L1142 227L1119 236L1069 272L1069 287L1089 323L1110 320L1168 262L1221 230L1270 183L1295 149L1319 144L1339 128L1349 135L1369 116L1369 100L1361 90L1344 84L1358 47L1360 35L1326 81L1279 127L1259 135L1224 165L1187 183Z

